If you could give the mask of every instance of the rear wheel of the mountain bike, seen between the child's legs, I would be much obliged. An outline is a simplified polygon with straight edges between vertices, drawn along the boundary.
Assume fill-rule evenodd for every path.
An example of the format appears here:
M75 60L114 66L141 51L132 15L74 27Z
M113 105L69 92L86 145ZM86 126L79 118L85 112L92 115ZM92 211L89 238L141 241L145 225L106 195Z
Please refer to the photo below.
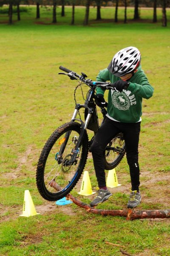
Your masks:
M105 149L105 169L115 168L123 159L126 152L123 134L119 133L110 141Z

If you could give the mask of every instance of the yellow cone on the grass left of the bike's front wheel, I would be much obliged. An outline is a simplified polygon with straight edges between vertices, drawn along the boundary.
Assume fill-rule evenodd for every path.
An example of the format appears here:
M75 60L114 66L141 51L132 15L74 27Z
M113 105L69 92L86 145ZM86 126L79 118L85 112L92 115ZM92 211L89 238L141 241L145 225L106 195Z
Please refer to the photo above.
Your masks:
M24 192L23 214L20 216L30 217L40 213L36 212L29 190Z

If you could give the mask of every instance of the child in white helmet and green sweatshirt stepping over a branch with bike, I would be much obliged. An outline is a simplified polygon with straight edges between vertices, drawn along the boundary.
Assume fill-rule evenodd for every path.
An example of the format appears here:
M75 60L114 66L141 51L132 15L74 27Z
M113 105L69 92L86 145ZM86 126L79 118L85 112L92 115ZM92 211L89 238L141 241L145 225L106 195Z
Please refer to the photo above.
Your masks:
M91 207L101 204L111 197L106 187L104 150L113 137L122 132L126 145L126 157L130 170L131 189L127 208L140 204L138 144L142 116L142 98L153 95L153 87L141 68L141 54L136 47L127 47L117 52L108 68L100 70L97 81L111 81L113 89L109 90L108 103L105 102L105 91L96 89L96 104L107 107L105 122L97 131L91 145L94 168L99 190Z

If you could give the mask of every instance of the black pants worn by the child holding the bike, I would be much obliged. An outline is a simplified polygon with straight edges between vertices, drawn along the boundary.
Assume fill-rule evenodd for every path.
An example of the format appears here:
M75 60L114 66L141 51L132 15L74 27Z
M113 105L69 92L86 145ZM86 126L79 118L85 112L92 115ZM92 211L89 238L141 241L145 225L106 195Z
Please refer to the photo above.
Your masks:
M140 122L137 123L122 123L116 122L106 117L105 122L97 131L94 141L91 145L91 152L93 155L94 169L98 185L106 186L105 178L105 160L104 151L106 145L113 139L113 137L122 132L125 138L126 157L130 169L131 189L139 190L139 163L138 163L138 144L140 133Z

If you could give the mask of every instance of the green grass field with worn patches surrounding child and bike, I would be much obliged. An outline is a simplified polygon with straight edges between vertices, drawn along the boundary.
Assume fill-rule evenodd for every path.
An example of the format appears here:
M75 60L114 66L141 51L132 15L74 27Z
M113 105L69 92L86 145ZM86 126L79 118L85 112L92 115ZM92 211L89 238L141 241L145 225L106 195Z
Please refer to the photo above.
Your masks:
M153 24L151 10L141 9L142 21L134 23L129 9L128 23L123 24L120 9L115 24L112 9L102 9L104 20L96 23L96 9L91 8L87 27L82 26L85 9L76 9L75 26L69 25L71 9L65 11L66 17L60 17L57 8L56 25L51 25L51 10L45 8L38 21L33 7L22 12L20 22L14 15L12 26L7 25L7 15L0 14L0 255L122 255L120 247L108 241L125 246L123 250L133 255L169 256L169 219L126 221L92 215L74 204L58 207L37 191L35 172L42 147L74 111L77 83L59 76L59 66L95 80L115 52L133 45L141 50L142 67L155 88L153 97L143 101L138 209L170 209L170 27L161 26L161 10L159 22ZM83 102L80 90L77 101ZM90 156L85 169L94 189ZM111 189L113 197L97 208L126 209L130 189L126 159L116 174L122 186ZM19 217L26 189L40 215ZM80 196L78 190L79 186L74 195L89 203L93 196Z

